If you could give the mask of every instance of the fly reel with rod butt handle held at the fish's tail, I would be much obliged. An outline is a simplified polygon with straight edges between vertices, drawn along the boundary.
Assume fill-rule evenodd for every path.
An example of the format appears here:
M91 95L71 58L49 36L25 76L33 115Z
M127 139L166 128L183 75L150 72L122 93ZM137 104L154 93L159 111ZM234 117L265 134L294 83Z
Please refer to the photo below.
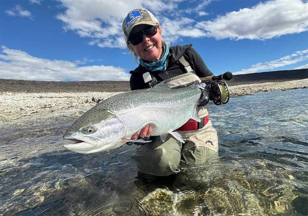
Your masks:
M201 96L201 104L199 104L199 106L206 105L210 100L216 105L228 103L230 91L224 80L230 80L232 76L231 72L226 72L219 76L201 78L201 81L204 83L201 83L200 86L203 88L203 91L207 91L207 94Z

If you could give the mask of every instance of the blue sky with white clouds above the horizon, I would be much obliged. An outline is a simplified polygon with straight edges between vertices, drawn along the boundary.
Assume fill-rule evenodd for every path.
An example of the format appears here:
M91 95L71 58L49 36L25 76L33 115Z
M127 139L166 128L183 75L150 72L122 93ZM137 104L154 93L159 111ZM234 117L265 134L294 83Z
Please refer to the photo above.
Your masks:
M0 78L129 80L121 25L138 7L216 75L308 68L307 0L0 0Z

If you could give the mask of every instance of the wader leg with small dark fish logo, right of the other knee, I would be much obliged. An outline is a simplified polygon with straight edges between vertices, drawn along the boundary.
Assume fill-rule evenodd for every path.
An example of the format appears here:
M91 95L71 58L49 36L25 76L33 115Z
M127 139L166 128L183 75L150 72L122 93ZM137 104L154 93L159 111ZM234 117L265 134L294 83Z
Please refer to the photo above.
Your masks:
M182 159L186 163L204 164L213 156L218 155L217 131L212 127L211 121L203 128L187 131L182 136L186 138L182 149Z

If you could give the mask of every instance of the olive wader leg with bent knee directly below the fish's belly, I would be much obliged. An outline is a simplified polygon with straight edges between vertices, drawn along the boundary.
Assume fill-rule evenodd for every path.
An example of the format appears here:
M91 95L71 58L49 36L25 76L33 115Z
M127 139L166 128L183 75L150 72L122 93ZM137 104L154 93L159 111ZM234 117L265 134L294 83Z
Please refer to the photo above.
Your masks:
M132 155L140 172L166 176L180 172L182 144L168 135L163 143L160 136L151 137L152 142L139 145Z

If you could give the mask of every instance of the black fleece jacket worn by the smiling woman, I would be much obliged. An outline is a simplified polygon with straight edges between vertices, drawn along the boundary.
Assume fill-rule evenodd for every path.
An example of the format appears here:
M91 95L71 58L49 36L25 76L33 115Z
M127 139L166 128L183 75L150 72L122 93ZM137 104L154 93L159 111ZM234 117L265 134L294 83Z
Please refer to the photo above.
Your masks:
M155 77L157 82L160 83L165 79L175 77L186 73L184 67L178 61L184 55L184 58L193 69L193 73L197 74L198 77L207 77L214 75L209 68L205 65L201 56L188 44L185 46L171 46L169 48L169 54L167 56L167 70L163 71L148 71L143 66L139 65L135 70L130 71L130 87L131 90L145 89L148 88L148 84L144 83L143 74L150 72L152 77Z

